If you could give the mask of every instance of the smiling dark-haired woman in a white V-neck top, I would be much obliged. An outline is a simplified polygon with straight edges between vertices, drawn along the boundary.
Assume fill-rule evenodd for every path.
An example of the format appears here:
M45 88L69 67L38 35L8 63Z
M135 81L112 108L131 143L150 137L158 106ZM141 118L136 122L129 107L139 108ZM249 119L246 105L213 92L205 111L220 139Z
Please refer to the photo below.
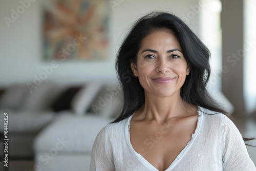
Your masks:
M175 15L140 18L116 61L123 110L98 133L90 170L256 170L233 118L206 91L209 56Z

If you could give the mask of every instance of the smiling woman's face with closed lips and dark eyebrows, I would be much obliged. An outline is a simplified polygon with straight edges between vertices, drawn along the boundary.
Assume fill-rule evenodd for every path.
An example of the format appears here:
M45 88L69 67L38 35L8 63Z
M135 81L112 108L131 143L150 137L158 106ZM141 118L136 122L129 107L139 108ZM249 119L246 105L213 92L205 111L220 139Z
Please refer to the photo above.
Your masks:
M190 72L178 39L167 31L151 33L142 39L137 54L137 66L131 63L131 68L134 75L138 76L145 93L160 97L180 94L180 88ZM170 79L159 83L155 79L158 77Z

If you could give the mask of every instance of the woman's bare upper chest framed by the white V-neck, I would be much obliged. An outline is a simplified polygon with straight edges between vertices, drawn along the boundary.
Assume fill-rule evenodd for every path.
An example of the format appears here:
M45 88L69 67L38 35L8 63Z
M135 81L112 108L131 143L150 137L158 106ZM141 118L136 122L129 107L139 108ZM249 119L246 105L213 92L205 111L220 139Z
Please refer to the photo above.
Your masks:
M130 126L130 140L135 152L158 170L165 170L191 140L194 122L166 123L163 125L135 124Z

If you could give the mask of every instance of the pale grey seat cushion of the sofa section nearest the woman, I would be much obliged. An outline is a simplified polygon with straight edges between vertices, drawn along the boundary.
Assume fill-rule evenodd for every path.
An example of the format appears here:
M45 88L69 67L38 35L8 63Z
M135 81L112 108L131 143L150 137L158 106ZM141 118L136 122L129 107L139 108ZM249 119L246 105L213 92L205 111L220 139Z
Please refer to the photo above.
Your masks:
M58 152L91 152L97 134L111 121L94 115L80 116L62 111L36 136L34 151L49 152L58 143Z

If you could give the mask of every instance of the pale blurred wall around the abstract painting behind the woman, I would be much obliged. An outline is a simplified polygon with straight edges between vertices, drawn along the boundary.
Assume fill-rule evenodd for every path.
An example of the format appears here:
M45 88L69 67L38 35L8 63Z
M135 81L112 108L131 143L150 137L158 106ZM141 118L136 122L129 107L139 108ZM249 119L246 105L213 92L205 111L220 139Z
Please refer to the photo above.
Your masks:
M28 0L20 0L27 2ZM32 0L30 0L32 1ZM33 0L24 13L19 14L8 27L4 17L11 18L12 9L17 11L19 1L0 2L0 87L9 86L14 82L33 82L35 75L44 70L42 66L50 66L50 62L42 60L42 6L40 1ZM132 23L152 10L173 12L183 18L198 35L199 17L197 0L181 1L150 1L150 0L113 0L118 6L111 8L110 56L107 61L59 61L58 67L47 79L60 77L111 77L116 78L115 58L125 33ZM112 1L112 2L113 2ZM111 2L111 1L109 1Z

